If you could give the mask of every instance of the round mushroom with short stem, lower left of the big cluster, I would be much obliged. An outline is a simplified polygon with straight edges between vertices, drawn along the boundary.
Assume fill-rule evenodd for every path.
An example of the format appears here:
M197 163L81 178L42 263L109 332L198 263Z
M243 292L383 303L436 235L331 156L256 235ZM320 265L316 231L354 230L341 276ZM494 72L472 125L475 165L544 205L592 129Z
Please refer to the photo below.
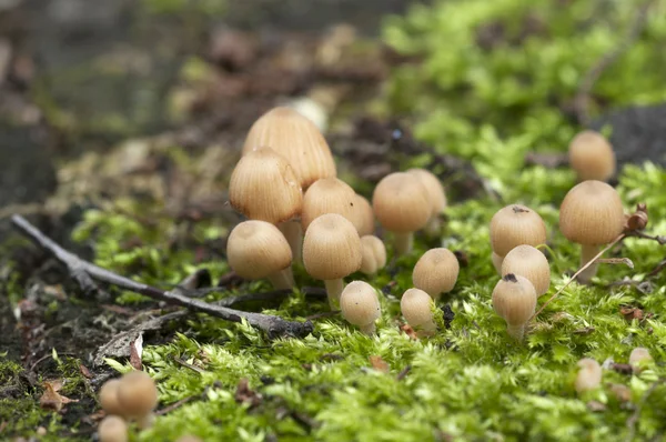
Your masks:
M243 221L226 241L229 265L241 278L268 278L275 289L291 289L292 252L278 228L265 221Z

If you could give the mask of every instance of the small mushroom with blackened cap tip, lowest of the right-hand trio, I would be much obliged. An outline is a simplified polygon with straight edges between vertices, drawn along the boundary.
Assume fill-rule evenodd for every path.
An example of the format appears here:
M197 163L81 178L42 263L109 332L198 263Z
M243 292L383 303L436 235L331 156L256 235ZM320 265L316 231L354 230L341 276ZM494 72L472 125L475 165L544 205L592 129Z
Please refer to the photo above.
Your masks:
M493 309L506 321L508 334L522 341L536 308L536 291L525 277L508 273L493 290Z

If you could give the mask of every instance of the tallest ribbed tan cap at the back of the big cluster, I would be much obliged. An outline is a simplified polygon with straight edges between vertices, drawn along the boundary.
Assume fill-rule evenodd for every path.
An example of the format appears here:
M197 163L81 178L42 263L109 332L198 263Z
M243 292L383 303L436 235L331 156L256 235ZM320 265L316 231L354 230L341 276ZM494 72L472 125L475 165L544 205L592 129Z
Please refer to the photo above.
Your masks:
M317 127L290 108L274 108L252 124L243 155L268 145L294 169L303 189L316 180L335 177L335 161Z

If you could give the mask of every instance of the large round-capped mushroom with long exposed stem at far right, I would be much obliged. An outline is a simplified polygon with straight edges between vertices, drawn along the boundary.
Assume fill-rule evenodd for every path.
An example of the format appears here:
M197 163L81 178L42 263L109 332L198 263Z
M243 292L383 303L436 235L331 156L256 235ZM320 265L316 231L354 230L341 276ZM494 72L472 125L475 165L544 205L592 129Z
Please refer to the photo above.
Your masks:
M559 208L559 230L567 240L581 244L581 267L598 253L599 247L615 240L625 223L617 191L601 181L583 181L568 191ZM588 283L596 274L594 262L579 275Z

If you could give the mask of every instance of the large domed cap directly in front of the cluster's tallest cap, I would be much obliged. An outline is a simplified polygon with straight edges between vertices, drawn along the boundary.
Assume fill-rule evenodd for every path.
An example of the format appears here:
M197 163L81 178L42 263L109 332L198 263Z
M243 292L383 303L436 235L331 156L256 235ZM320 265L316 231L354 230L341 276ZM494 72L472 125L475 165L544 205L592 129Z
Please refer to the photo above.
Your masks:
M287 161L274 150L261 148L236 164L229 200L245 217L278 224L301 213L303 192Z

